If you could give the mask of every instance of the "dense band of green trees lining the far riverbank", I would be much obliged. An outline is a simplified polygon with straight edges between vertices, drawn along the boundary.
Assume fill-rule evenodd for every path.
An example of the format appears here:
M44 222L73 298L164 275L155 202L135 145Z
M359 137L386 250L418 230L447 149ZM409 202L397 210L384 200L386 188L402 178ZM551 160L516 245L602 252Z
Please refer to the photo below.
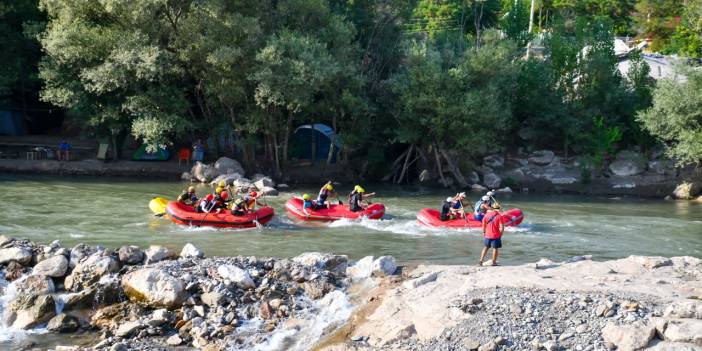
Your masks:
M699 161L694 61L656 83L636 52L617 69L613 39L700 57L700 1L535 4L530 28L525 0L14 1L0 95L57 107L115 152L130 134L154 148L233 133L247 169L275 178L310 122L343 142L328 161L398 183L424 169L463 183L477 156L519 147L580 155L588 177L658 142ZM525 58L528 42L544 54Z

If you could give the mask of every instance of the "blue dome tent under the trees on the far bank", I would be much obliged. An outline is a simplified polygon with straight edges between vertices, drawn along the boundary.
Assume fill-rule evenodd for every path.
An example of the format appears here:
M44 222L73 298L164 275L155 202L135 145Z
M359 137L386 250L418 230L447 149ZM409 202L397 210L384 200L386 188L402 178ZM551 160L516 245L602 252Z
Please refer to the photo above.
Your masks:
M290 157L306 160L326 160L329 148L334 140L334 157L341 150L341 141L334 133L334 129L326 124L305 124L297 127L290 141Z

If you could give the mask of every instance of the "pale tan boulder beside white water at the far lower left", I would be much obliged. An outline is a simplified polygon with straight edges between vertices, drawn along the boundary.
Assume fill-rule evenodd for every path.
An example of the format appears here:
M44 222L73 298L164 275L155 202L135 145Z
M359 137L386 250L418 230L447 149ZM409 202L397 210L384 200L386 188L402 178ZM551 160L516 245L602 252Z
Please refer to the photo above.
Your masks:
M55 315L56 305L51 295L22 294L12 301L6 323L15 329L32 329Z

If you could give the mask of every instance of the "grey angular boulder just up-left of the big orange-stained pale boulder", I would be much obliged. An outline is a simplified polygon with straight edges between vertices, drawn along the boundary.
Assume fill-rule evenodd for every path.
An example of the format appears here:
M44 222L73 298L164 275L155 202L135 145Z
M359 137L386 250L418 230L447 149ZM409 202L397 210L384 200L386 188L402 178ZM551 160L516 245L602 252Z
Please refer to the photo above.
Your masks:
M119 262L112 256L94 253L73 268L64 281L64 288L74 292L83 290L97 283L102 276L117 273L120 268Z

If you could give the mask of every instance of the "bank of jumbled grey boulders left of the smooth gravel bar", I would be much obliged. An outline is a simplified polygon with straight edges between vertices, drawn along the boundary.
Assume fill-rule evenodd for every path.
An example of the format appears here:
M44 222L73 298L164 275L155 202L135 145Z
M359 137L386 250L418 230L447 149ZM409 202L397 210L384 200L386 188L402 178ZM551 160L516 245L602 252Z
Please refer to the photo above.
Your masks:
M178 254L2 236L0 267L0 331L94 333L89 348L109 350L306 350L349 317L347 269L358 277L396 269L391 257L349 267L346 256L320 253L204 258L191 244ZM15 345L55 346L21 337Z

